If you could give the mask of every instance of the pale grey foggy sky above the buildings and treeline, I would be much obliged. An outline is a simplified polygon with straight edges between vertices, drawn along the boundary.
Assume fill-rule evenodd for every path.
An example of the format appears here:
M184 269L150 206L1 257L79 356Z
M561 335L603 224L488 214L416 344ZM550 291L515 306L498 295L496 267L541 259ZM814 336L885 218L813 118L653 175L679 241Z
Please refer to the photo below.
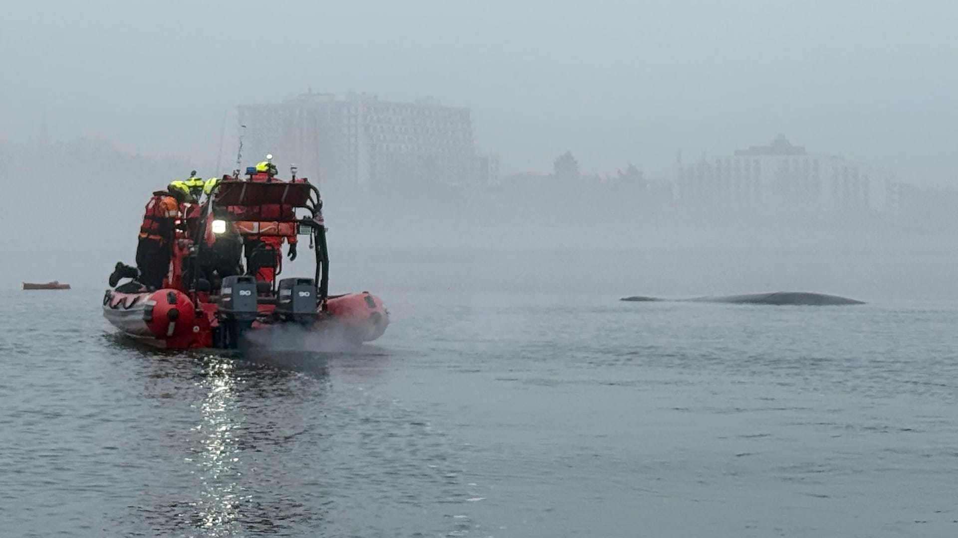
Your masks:
M474 111L504 171L765 144L951 179L958 5L946 1L236 0L5 4L0 138L96 136L213 162L224 110L306 91ZM227 123L224 160L235 157Z

